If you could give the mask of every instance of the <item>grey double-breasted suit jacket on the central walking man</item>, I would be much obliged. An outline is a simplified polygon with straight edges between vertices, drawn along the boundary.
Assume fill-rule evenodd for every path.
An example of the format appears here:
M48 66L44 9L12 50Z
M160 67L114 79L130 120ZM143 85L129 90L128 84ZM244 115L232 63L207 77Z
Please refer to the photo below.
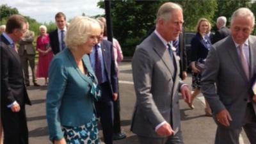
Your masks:
M138 45L132 58L136 104L131 130L135 134L159 137L155 128L164 121L179 130L178 90L184 83L179 81L179 61L174 57L173 67L168 49L155 33ZM172 70L176 71L173 77Z

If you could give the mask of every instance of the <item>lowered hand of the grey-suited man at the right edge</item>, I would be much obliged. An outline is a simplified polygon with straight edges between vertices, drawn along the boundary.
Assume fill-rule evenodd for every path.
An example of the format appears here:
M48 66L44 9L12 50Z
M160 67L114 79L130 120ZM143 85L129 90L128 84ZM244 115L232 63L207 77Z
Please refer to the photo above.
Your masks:
M228 127L230 124L229 122L232 121L230 114L228 113L227 109L223 109L220 113L216 114L216 120L220 122L221 125Z

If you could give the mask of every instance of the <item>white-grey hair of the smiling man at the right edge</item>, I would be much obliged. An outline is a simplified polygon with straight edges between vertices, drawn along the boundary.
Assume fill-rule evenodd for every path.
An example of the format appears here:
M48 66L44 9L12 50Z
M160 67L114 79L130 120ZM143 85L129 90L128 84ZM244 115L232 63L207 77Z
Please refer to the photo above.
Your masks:
M250 17L252 19L252 26L255 25L255 16L249 8L239 8L239 9L237 9L232 14L231 25L233 24L234 19L236 19L236 17Z

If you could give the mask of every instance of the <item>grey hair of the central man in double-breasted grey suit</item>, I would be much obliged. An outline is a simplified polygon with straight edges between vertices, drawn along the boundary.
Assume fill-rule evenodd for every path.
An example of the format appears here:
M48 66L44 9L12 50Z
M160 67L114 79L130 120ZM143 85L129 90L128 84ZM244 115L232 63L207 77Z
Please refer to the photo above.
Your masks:
M181 10L182 8L179 4L167 2L160 6L157 15L156 15L156 21L159 19L163 19L164 21L168 21L171 19L170 13L172 13L174 10Z

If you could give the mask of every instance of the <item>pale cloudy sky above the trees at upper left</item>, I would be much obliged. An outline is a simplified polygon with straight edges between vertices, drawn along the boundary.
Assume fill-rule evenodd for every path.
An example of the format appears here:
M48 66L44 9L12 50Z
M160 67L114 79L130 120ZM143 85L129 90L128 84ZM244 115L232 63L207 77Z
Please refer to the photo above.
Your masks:
M105 11L97 7L99 0L0 0L17 8L19 13L35 19L37 22L54 22L57 12L65 13L67 20L84 13L87 16L101 15Z

